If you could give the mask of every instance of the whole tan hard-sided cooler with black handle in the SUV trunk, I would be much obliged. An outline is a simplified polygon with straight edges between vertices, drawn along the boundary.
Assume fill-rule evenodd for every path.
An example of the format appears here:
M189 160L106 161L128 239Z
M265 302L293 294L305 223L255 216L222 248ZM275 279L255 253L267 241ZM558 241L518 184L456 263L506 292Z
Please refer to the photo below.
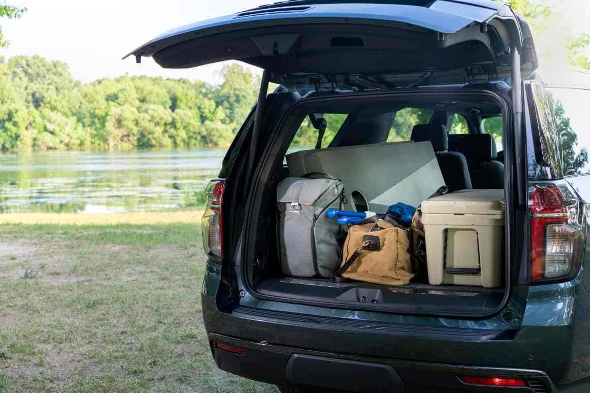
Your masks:
M421 209L432 285L501 285L504 190L457 191Z

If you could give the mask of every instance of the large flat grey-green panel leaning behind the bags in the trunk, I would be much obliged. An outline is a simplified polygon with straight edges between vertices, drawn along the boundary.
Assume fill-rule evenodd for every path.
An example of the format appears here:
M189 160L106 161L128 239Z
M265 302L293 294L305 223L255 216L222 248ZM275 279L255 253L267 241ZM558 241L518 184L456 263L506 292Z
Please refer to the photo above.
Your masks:
M287 155L287 165L293 177L319 171L342 180L347 209L355 209L356 191L376 213L397 202L416 207L445 184L430 141L301 150Z

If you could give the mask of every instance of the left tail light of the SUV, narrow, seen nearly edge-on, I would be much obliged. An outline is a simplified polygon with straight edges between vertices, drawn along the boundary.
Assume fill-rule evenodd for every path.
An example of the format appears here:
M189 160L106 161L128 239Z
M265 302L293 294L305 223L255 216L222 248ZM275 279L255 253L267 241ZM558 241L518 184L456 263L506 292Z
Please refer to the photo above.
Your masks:
M223 193L225 180L212 180L205 190L205 214L201 220L205 254L223 257Z

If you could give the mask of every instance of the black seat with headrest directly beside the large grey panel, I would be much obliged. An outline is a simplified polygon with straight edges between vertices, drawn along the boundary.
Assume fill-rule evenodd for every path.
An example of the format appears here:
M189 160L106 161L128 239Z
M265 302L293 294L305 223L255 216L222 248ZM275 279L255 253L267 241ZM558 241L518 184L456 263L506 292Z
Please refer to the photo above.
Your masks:
M471 176L463 154L448 150L447 130L441 124L417 124L412 129L414 142L430 141L436 153L442 178L450 191L470 190Z

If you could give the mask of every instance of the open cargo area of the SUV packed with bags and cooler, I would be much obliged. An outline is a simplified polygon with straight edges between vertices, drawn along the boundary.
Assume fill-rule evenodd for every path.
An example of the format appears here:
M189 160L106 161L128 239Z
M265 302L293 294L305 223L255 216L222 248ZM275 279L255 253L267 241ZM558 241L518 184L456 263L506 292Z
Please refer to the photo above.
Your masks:
M255 294L409 314L484 315L499 308L507 292L506 122L499 97L474 97L395 97L291 111L280 130L282 162L277 158L264 190L260 244L271 240L247 267ZM366 236L377 235L371 231L386 226L383 216L390 220L396 204L410 213L420 207L421 230L412 229L415 214L396 216L407 239L382 237L375 249L363 240L361 256L336 277L355 251L350 230L365 225ZM388 251L392 241L397 251ZM404 272L402 263L409 266Z

